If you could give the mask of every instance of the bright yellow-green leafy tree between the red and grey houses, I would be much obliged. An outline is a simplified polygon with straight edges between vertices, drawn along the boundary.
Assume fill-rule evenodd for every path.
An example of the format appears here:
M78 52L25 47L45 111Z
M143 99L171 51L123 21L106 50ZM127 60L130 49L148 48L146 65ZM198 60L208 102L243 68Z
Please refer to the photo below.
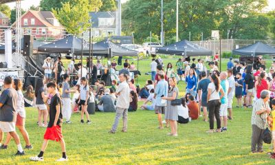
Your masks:
M80 35L90 27L89 12L101 7L100 0L72 0L63 3L60 10L53 10L58 21L70 34Z

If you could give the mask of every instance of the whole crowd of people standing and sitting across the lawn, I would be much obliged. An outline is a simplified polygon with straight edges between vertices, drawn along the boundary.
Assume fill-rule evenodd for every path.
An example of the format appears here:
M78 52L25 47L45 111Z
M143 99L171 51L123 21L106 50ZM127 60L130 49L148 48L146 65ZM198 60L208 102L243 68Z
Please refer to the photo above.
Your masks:
M134 63L130 65L126 60L118 72L119 80L112 80L111 87L108 88L104 81L97 79L89 83L87 71L91 69L93 73L94 69L100 69L100 62L90 68L88 61L87 69L81 63L78 64L78 80L76 84L72 83L72 87L69 74L74 72L74 63L69 64L66 73L61 58L56 63L51 61L50 57L45 60L45 76L37 80L35 87L27 87L25 94L22 92L21 80L5 77L4 90L0 96L1 149L7 149L11 138L14 138L18 150L16 155L25 154L15 126L25 140L25 149L32 148L25 130L25 107L36 107L37 124L47 127L39 155L30 157L33 161L43 161L48 140L61 144L62 157L58 161L68 160L62 124L72 124L72 113L80 113L80 123L83 124L85 115L86 123L91 124L89 102L94 102L98 111L115 112L115 120L109 133L116 133L121 117L122 132L126 133L128 111L137 111L138 100L144 100L140 108L155 111L159 123L157 129L164 129L165 124L165 127L170 127L168 135L177 136L178 124L187 124L200 116L204 122L209 122L207 133L227 131L228 120L233 119L232 103L235 96L236 108L253 107L252 153L263 152L263 131L267 124L272 126L273 121L275 122L275 119L269 117L270 113L274 113L271 109L275 107L275 63L270 67L269 73L266 73L265 65L261 63L252 66L234 61L233 64L230 58L227 71L219 72L217 61L210 61L208 70L202 59L198 59L196 63L196 59L192 58L191 63L189 57L179 58L174 70L172 63L168 63L164 69L162 59L153 58L150 64L151 79L146 80L146 85L140 88L130 75L130 70L135 68ZM115 61L110 66L116 69ZM179 98L179 81L186 83L184 98ZM275 113L272 116L275 118ZM217 129L214 129L215 121ZM275 130L273 128L272 131ZM4 143L3 133L7 133ZM275 131L273 136L275 138ZM275 158L274 153L270 154Z

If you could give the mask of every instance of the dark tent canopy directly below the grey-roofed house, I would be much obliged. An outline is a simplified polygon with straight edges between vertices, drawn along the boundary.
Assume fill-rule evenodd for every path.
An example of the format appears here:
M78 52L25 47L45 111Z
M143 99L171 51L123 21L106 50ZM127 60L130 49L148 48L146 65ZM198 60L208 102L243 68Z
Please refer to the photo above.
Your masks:
M93 56L109 56L110 49L111 56L137 56L138 54L138 52L134 50L115 45L115 43L112 43L109 39L104 39L103 41L93 44ZM75 54L81 54L81 48L75 50ZM83 47L83 54L86 56L89 55L89 44L87 47Z

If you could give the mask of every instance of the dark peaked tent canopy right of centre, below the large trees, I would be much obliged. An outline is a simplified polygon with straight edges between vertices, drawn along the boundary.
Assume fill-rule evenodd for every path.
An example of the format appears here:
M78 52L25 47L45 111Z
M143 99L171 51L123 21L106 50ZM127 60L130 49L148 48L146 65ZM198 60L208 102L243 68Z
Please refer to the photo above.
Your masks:
M164 47L157 47L157 54L172 54L178 56L212 56L213 52L190 41L183 40Z

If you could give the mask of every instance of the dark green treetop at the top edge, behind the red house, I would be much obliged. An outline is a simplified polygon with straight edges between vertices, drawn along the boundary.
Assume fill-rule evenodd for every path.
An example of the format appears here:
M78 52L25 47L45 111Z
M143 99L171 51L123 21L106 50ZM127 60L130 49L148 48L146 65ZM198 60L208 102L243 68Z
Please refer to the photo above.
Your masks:
M41 0L40 7L42 11L52 11L62 8L62 3L69 2L70 0Z

